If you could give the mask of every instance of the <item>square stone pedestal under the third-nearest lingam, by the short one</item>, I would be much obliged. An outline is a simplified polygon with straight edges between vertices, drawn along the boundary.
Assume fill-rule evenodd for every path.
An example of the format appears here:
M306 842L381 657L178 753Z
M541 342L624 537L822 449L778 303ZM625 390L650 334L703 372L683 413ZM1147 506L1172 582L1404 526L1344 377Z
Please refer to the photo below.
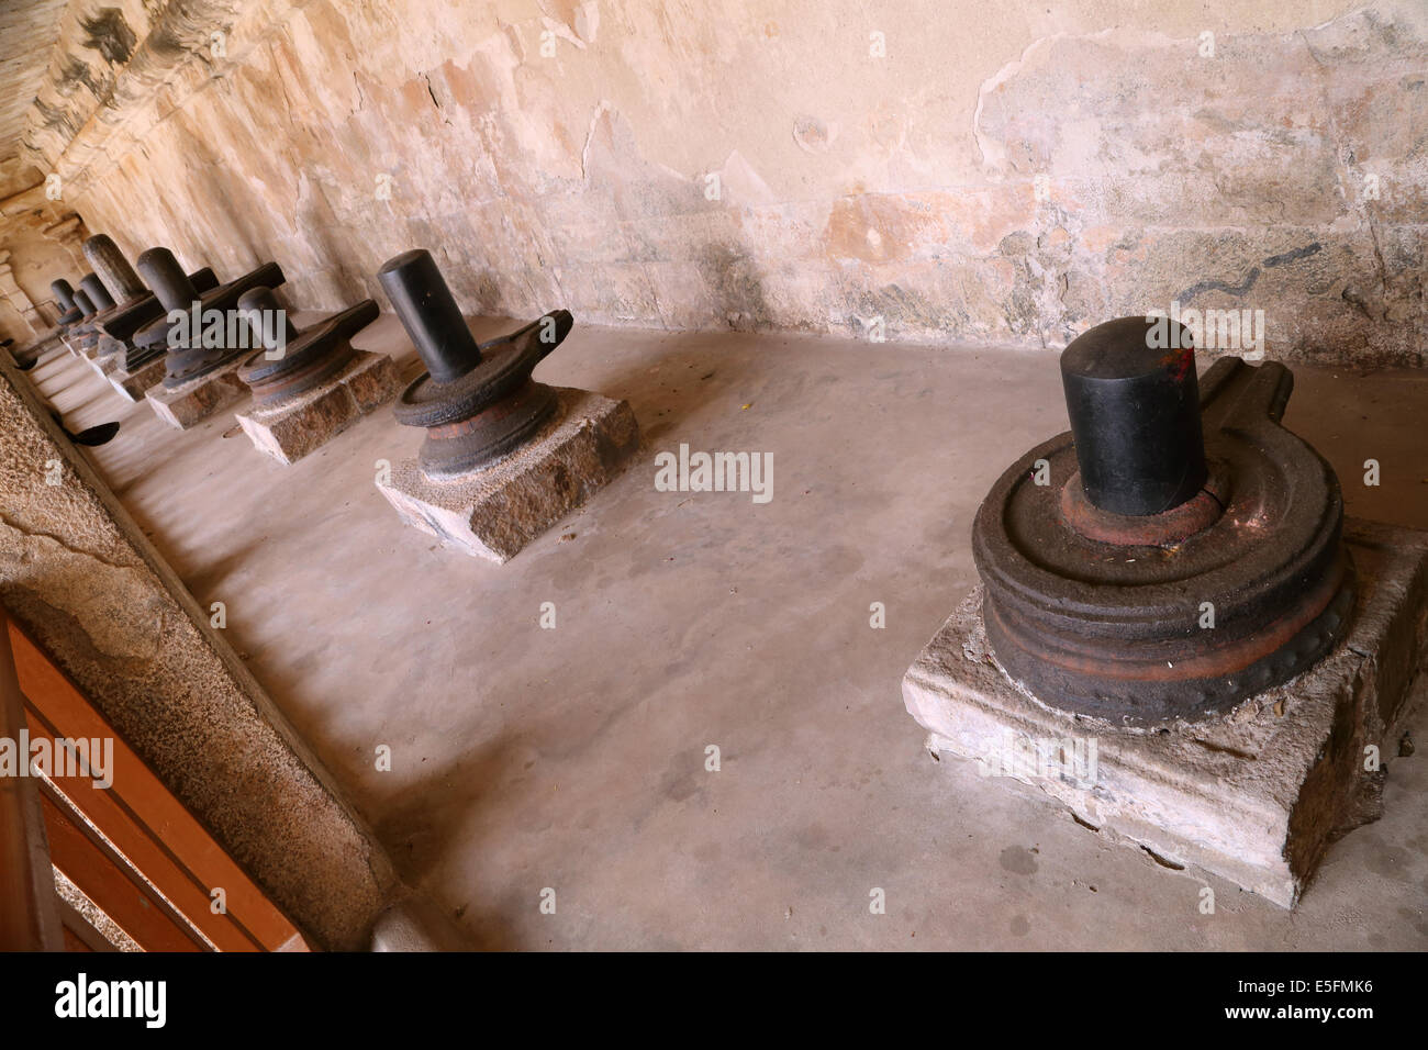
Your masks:
M273 406L238 414L243 433L278 463L296 463L401 391L401 376L386 354L358 350L330 383Z

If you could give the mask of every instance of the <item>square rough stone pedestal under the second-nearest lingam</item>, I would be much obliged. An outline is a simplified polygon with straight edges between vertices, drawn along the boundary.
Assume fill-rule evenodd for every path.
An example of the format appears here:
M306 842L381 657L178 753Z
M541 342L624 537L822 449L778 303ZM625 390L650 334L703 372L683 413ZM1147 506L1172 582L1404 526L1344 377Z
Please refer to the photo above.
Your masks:
M555 419L514 453L454 481L407 460L378 483L403 520L467 554L508 561L620 473L640 446L627 401L555 387Z

